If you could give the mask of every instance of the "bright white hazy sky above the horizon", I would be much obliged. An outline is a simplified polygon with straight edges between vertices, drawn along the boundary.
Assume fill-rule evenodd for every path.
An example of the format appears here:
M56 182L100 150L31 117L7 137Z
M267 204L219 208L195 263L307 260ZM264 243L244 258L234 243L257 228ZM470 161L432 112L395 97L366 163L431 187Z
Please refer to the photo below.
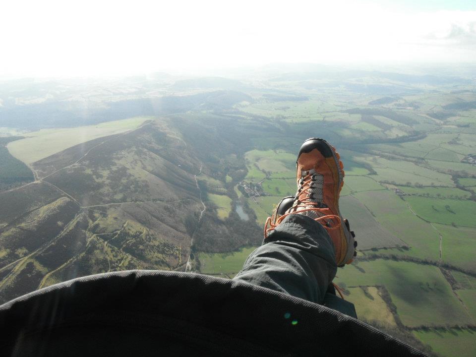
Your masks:
M474 0L7 0L0 76L475 63Z

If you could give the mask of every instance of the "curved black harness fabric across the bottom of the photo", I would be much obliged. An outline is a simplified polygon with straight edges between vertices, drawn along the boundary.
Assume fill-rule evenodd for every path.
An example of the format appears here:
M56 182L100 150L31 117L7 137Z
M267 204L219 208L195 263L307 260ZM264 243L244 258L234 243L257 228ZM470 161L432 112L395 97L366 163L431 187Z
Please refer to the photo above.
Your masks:
M1 356L426 356L298 297L150 270L77 278L18 297L0 306L0 333Z

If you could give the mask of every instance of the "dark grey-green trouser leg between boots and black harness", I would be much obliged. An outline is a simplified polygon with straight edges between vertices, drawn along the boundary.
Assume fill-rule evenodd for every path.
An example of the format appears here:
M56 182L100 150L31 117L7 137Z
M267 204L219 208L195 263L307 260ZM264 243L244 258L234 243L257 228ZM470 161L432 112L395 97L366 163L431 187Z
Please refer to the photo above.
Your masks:
M336 272L334 245L324 227L307 216L291 214L249 255L234 279L356 317L352 303L326 294Z

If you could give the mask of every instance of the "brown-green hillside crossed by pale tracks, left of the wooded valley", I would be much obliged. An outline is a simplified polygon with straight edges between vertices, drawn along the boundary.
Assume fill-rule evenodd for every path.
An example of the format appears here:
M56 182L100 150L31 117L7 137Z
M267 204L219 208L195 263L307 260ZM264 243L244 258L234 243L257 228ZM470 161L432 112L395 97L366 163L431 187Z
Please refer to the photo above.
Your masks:
M54 157L53 175L0 193L2 301L76 276L185 264L200 168L165 121Z

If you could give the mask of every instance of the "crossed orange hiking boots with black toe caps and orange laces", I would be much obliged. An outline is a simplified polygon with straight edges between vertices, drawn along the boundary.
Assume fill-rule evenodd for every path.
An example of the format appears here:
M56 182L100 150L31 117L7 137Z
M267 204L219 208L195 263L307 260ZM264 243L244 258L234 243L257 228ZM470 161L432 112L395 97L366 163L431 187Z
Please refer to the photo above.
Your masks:
M304 141L297 155L296 196L281 200L273 217L266 221L265 236L287 215L306 215L327 230L334 243L337 266L342 267L353 261L357 242L339 211L339 194L344 185L344 165L339 159L335 148L325 140Z

